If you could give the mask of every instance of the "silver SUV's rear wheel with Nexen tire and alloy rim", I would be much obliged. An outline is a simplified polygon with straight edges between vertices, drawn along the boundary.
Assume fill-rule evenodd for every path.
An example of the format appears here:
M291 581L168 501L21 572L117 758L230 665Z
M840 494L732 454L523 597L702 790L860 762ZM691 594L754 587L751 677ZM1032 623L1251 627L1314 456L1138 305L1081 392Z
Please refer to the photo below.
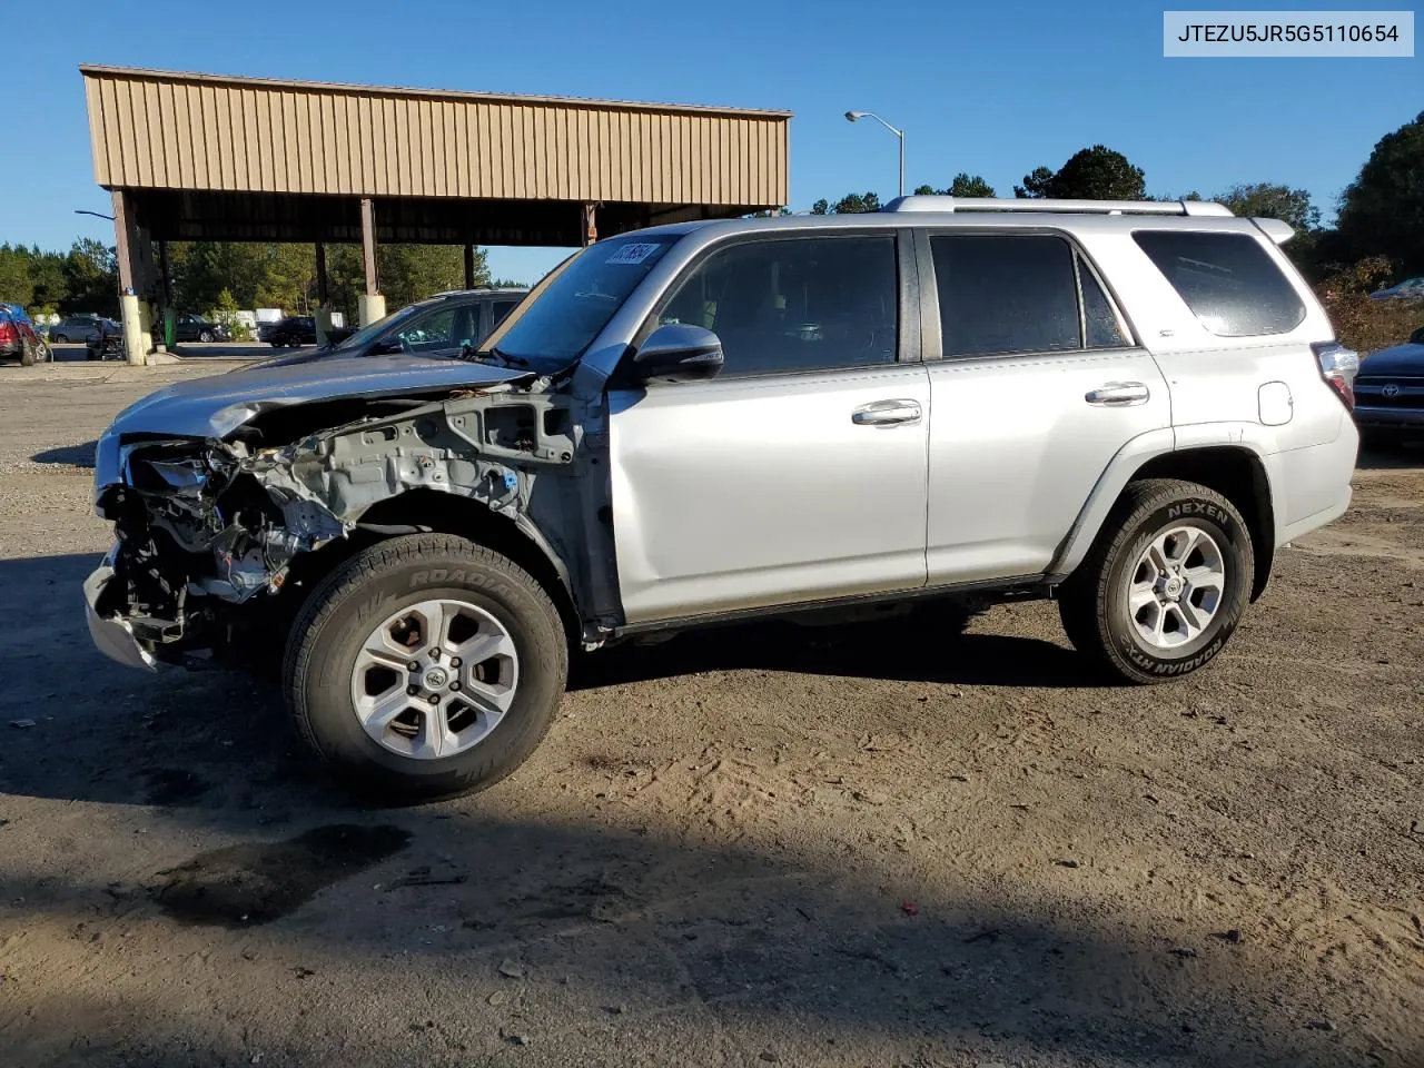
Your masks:
M1168 554L1166 571L1148 555L1153 545L1162 547L1158 558ZM1255 562L1250 530L1229 500L1196 483L1145 478L1124 490L1088 557L1059 587L1058 612L1074 648L1119 679L1180 678L1209 664L1232 637L1250 600ZM1173 588L1171 577L1182 582L1182 572L1202 575L1200 584ZM1151 587L1148 580L1155 580ZM1188 621L1202 625L1193 634ZM1155 637L1146 634L1152 629Z

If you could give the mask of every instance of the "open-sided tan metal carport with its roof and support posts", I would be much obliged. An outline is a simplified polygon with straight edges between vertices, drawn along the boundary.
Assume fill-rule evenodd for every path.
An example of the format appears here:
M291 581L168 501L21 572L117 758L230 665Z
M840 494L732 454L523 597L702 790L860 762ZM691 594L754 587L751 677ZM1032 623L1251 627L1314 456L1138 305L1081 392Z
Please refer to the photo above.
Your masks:
M379 242L577 246L787 201L786 111L80 71L132 362L167 305L155 244L315 242L320 265L360 242L369 322Z

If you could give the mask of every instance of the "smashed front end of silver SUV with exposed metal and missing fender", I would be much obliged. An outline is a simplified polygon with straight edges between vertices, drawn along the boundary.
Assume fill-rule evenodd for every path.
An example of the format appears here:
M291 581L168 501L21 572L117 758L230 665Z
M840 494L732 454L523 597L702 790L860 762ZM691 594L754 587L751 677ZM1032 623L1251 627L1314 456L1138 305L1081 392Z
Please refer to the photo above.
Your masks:
M568 474L582 441L570 397L525 376L436 396L326 397L253 406L225 436L124 433L98 447L95 510L117 543L85 584L90 627L111 658L197 666L239 648L303 561L357 537L419 530L367 523L412 490L454 494L561 547L531 518L535 483ZM335 426L313 429L333 420ZM278 444L268 444L278 441ZM562 478L562 490L568 491ZM554 493L544 506L562 510ZM266 608L265 608L266 607Z

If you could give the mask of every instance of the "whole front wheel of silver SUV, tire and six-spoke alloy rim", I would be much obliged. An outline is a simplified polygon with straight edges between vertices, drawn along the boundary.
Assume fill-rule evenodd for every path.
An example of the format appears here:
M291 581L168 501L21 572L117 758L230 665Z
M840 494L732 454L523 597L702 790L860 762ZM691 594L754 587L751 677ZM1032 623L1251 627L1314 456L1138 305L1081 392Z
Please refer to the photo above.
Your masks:
M298 729L342 779L423 802L491 786L534 752L568 641L513 561L413 534L357 553L312 592L283 674Z

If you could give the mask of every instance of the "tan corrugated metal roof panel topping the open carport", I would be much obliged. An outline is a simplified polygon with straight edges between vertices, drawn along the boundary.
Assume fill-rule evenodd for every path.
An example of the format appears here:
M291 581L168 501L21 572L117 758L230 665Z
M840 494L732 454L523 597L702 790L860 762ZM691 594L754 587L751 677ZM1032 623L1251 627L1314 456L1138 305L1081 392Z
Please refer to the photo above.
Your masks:
M80 67L107 188L776 206L789 112Z

